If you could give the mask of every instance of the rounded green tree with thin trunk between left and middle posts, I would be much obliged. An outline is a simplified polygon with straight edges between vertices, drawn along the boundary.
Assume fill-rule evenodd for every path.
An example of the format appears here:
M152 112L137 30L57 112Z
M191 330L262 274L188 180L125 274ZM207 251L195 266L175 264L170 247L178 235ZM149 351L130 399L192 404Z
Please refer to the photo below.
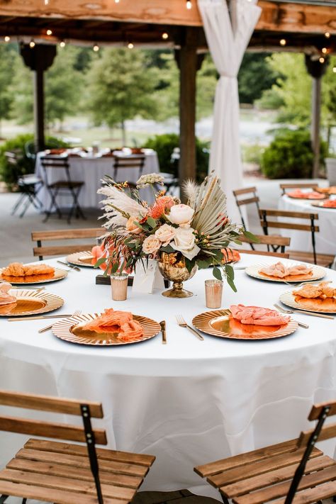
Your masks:
M109 128L120 124L125 145L125 121L157 113L157 72L149 67L145 53L130 49L104 49L88 72L88 106L96 124Z

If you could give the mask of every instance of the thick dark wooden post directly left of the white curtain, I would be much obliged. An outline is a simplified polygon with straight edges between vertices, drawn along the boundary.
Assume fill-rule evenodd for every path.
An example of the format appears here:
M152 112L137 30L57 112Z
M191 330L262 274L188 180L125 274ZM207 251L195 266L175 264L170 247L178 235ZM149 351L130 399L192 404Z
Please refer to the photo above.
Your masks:
M184 28L181 49L176 53L179 66L179 183L196 177L196 73L198 69L197 32Z

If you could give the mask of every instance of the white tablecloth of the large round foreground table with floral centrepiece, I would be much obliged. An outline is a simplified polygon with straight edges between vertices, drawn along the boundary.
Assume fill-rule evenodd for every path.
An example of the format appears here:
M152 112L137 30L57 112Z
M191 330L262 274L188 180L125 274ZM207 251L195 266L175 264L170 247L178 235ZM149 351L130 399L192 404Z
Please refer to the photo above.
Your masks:
M242 254L238 266L260 261L274 258ZM55 259L47 262L57 265ZM336 283L336 271L325 272L325 279ZM105 416L99 427L107 430L108 446L157 457L142 490L189 488L218 498L194 466L293 439L310 426L306 418L314 401L335 399L335 320L296 314L309 329L298 327L276 340L204 335L202 342L179 327L175 315L182 313L190 323L206 311L204 280L212 277L210 270L186 282L194 297L182 300L129 288L127 301L113 302L110 286L95 285L95 276L96 270L82 268L46 284L47 291L65 299L60 313L79 308L96 313L112 306L166 320L167 345L159 334L135 345L87 347L59 340L51 331L39 334L46 320L1 318L1 388L101 401ZM225 286L223 308L231 303L271 308L290 289L252 279L243 270L235 276L237 293ZM22 438L0 434L0 465L21 447ZM327 454L333 456L334 449L327 442Z

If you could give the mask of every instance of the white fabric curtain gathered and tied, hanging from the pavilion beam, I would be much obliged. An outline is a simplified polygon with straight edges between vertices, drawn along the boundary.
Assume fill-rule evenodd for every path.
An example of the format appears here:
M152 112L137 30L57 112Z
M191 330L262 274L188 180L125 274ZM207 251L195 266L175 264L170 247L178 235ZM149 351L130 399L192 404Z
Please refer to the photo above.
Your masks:
M215 170L228 198L228 215L240 223L233 189L242 187L237 74L262 9L257 0L198 0L208 47L220 74L215 91L209 172Z

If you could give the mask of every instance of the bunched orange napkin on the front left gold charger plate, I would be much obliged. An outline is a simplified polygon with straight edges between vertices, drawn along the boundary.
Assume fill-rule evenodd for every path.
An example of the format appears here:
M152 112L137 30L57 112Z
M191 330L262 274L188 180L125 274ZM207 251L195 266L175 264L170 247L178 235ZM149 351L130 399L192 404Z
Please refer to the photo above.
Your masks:
M138 337L143 335L143 329L137 320L133 320L132 313L113 308L106 308L104 313L90 320L82 329L94 332L118 332L117 338L122 341L138 340Z

